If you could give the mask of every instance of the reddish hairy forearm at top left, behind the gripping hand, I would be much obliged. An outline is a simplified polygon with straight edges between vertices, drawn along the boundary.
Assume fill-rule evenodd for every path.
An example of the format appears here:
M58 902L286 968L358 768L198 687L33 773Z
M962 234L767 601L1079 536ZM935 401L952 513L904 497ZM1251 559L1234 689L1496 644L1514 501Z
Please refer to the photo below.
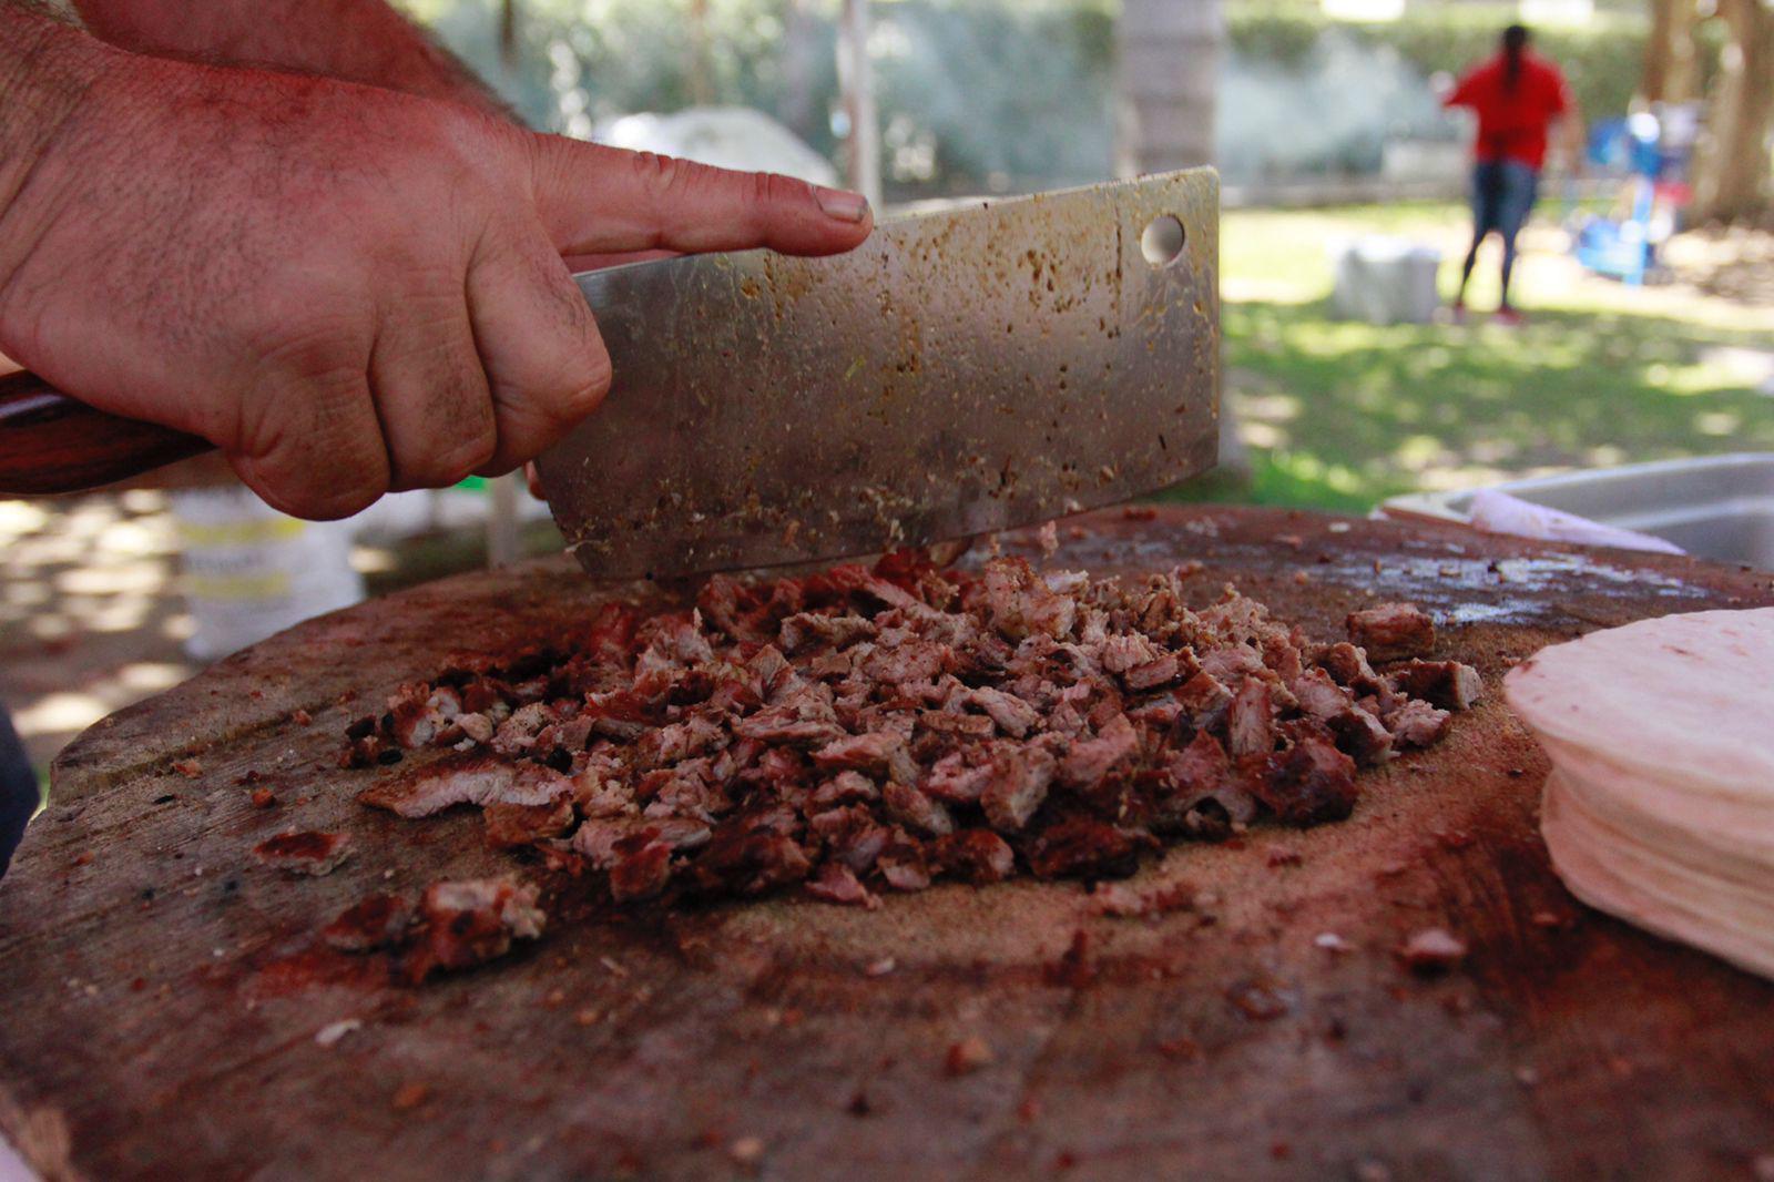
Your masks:
M385 0L75 0L87 27L126 50L275 66L387 91L509 108Z

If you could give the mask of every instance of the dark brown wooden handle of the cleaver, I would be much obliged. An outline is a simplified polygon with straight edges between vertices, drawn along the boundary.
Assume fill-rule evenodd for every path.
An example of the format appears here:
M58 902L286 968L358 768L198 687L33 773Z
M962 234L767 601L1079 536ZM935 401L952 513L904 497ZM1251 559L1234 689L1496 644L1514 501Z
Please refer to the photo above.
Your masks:
M0 378L0 495L98 488L209 447L184 431L94 410L34 373Z

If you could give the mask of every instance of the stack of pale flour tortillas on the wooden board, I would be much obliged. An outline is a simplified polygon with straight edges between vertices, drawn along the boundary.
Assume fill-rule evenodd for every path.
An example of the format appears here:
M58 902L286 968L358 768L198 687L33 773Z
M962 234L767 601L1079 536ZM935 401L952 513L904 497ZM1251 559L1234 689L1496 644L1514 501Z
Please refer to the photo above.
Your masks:
M1774 609L1593 632L1503 685L1552 758L1540 825L1565 886L1774 976Z

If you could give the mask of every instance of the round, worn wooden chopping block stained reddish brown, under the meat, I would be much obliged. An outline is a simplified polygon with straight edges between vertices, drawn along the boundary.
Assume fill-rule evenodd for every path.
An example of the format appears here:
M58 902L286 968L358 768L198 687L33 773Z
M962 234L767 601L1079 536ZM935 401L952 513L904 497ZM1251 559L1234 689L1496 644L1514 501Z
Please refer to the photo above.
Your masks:
M561 635L612 593L566 561L449 579L275 637L62 754L0 884L0 1125L96 1178L1754 1177L1774 985L1563 891L1535 822L1545 761L1495 687L1597 626L1774 603L1767 575L1258 509L1073 532L1054 563L1199 559L1203 600L1233 580L1323 637L1373 596L1416 600L1490 699L1371 776L1345 823L1153 861L1134 886L1197 893L1158 919L1034 882L608 914L484 850L470 813L365 809L374 774L334 767L396 682ZM247 772L275 808L250 806ZM248 850L286 829L358 854L277 877ZM553 921L484 969L392 987L314 942L365 893L514 866ZM1440 980L1393 957L1426 926L1471 944ZM362 1026L316 1042L341 1020ZM951 1074L969 1038L990 1063Z

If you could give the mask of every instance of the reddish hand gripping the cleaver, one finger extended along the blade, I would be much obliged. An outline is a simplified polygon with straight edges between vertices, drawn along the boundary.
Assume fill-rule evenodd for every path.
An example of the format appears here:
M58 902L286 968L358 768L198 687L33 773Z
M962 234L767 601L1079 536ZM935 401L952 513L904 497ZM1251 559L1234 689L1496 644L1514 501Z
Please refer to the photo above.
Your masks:
M562 256L823 254L866 202L323 78L106 51L0 209L0 351L344 516L506 472L610 382Z

